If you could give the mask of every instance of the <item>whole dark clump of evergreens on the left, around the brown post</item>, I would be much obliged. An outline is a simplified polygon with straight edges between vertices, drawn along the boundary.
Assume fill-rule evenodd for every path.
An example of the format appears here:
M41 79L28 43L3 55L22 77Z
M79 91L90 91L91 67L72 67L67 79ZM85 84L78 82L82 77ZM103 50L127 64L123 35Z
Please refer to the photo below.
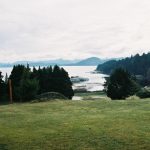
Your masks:
M31 69L29 65L16 65L13 67L9 77L3 80L0 72L0 101L9 100L9 83L12 83L13 101L26 102L36 98L37 95L46 92L58 92L68 99L74 95L72 82L63 68L55 65L54 67L39 67Z

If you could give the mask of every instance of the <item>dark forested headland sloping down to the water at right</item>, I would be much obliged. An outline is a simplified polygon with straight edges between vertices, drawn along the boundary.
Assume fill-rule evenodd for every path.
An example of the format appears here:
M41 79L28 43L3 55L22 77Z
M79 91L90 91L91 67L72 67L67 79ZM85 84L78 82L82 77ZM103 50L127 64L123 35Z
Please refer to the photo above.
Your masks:
M108 61L99 65L97 70L106 74L111 74L114 69L119 67L128 70L134 75L143 75L146 77L147 71L150 68L150 53L143 54L142 56L137 54L134 57L131 56L130 58L125 58L119 61Z

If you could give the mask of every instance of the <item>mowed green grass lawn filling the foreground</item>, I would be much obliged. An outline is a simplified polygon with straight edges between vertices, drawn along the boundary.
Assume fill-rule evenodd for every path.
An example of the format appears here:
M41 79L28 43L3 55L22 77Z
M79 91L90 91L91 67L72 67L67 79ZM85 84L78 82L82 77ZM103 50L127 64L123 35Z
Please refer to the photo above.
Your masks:
M150 99L0 106L2 150L150 150Z

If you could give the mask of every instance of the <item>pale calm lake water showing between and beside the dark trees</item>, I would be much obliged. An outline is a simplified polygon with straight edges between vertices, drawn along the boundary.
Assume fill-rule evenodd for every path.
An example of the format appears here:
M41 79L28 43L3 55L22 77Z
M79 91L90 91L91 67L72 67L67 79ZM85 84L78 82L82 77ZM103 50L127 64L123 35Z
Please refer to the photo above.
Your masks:
M88 91L103 90L103 84L105 82L104 77L106 75L93 72L96 66L63 66L63 68L69 73L69 76L79 76L88 78L88 81L76 83L73 88L85 88ZM0 68L3 75L7 73L10 75L12 68Z

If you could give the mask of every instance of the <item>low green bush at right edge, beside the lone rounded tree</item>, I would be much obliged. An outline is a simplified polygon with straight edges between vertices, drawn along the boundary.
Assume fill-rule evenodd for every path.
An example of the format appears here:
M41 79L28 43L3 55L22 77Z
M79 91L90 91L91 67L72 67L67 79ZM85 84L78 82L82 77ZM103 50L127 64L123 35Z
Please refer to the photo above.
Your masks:
M150 87L142 88L136 95L140 98L150 98Z

